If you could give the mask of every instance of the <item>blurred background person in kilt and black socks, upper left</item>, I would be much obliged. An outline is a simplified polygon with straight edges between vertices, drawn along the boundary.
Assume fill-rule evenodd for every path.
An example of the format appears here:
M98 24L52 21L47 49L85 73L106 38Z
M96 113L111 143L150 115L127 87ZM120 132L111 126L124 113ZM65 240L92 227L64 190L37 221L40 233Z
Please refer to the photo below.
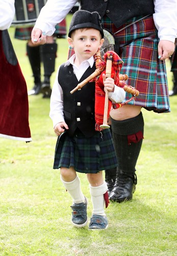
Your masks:
M66 19L56 25L53 36L47 36L47 44L43 46L34 46L31 41L31 32L33 27L22 27L15 29L15 38L27 40L27 55L34 77L33 89L28 95L43 94L43 98L50 98L52 89L50 87L50 76L55 71L55 59L57 57L56 43L57 38L66 37ZM41 82L41 62L43 62L44 79Z

